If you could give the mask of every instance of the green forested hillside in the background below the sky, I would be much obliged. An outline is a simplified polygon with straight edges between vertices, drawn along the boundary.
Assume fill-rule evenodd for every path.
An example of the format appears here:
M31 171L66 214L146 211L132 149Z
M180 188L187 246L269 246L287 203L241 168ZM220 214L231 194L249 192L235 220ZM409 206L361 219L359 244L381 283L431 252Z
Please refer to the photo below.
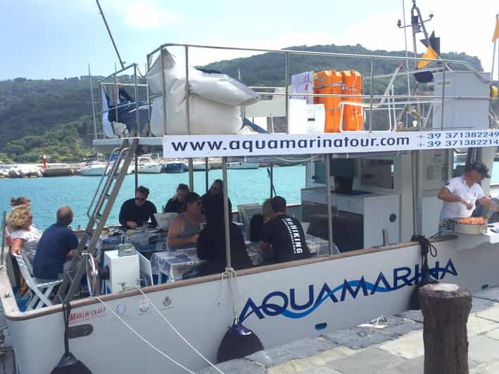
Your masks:
M405 56L403 51L370 51L359 44L293 46L289 49ZM480 60L465 53L448 53L443 57L465 60L482 70ZM374 73L389 74L395 70L396 63L379 60L375 64ZM220 70L232 77L238 76L239 69L241 80L251 86L284 85L284 55L278 53L224 60L209 64L206 68ZM324 69L352 69L366 75L370 71L370 60L296 55L289 59L290 74ZM101 78L94 77L94 82ZM121 82L129 80L131 77L120 77ZM374 87L374 92L381 91L382 87L383 82L380 82L380 86ZM404 79L400 79L396 91L405 91ZM42 141L46 143L49 160L77 160L91 151L93 132L89 77L46 80L15 78L0 82L0 161L40 160Z

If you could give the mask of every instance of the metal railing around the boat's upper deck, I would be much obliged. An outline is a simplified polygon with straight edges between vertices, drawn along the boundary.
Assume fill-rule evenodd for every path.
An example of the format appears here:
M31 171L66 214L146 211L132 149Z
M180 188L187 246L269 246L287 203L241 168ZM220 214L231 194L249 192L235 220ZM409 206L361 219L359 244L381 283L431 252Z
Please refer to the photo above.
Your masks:
M119 109L129 105L129 104L123 104L123 105L118 105L118 91L120 86L130 86L134 87L134 94L135 94L135 112L136 112L136 126L135 126L135 132L136 136L140 136L140 118L139 118L139 88L141 89L146 89L146 100L148 103L148 112L149 112L149 122L151 120L151 99L154 97L157 97L159 95L162 96L163 98L163 134L168 134L168 123L167 123L167 93L166 93L166 86L165 86L165 69L164 69L164 62L163 62L163 51L165 49L168 49L170 47L179 47L183 49L184 51L184 66L185 66L185 79L186 79L186 84L185 84L185 93L186 93L186 100L185 100L185 112L186 112L186 124L187 124L187 134L191 134L191 108L190 108L190 96L191 92L189 90L189 62L191 61L190 59L190 52L192 49L215 49L215 50L220 50L220 51L240 51L240 52L255 52L255 53L277 53L281 54L284 56L284 87L278 87L278 86L251 86L250 88L253 89L255 92L257 92L260 96L270 96L270 97L276 97L276 96L284 96L284 126L285 126L285 132L288 132L289 129L289 98L291 96L304 96L304 97L313 97L313 98L324 98L324 97L332 97L332 98L341 98L343 99L343 104L339 107L339 110L343 110L344 105L356 105L359 106L362 110L363 113L363 118L366 119L365 112L369 110L368 118L369 118L369 124L368 124L368 130L369 131L379 131L377 129L373 129L373 116L374 112L377 112L379 110L381 111L387 111L387 112L396 112L396 110L400 111L400 108L406 109L410 105L417 105L418 112L419 110L422 110L422 112L430 112L434 108L435 103L441 104L441 127L443 127L443 118L444 118L444 107L446 104L446 101L450 100L487 100L487 101L493 101L497 99L493 99L490 97L479 97L479 96L446 96L446 85L443 84L442 87L442 93L441 96L436 98L435 96L427 96L427 95L419 95L417 93L411 93L408 89L407 94L394 94L393 86L394 82L398 77L403 77L405 80L405 77L409 77L415 72L441 72L442 73L442 78L443 82L445 82L445 76L446 76L446 71L450 70L449 65L457 66L460 67L462 70L461 71L467 71L471 72L472 74L476 75L476 77L481 80L481 82L488 82L488 80L484 79L482 75L470 64L467 63L466 61L461 61L461 60L444 60L444 59L431 59L431 58L415 58L415 57L408 57L408 56L378 56L378 55L364 55L364 54L359 54L359 53L333 53L333 52L315 52L315 51L295 51L295 50L290 50L290 49L256 49L256 48L245 48L245 47L234 47L234 46L210 46L210 45L203 45L203 44L176 44L176 43L166 43L160 45L158 48L154 49L150 53L146 55L146 68L147 72L151 70L152 67L152 61L153 58L158 54L161 56L159 59L159 68L160 68L160 77L161 77L161 83L160 83L160 93L151 93L151 87L149 84L139 84L138 83L138 77L137 77L137 72L138 72L138 65L137 63L133 63L130 65L127 65L126 67L122 68L121 70L116 70L113 72L113 74L108 75L108 77L105 77L104 79L101 79L99 82L99 89L103 86L112 86L113 88L113 95L115 96L115 106L111 108L110 110L115 110L115 117L116 117L116 122L119 121ZM365 60L366 64L369 63L370 69L369 72L365 75L362 76L362 80L368 82L365 84L365 86L368 87L368 92L360 93L360 94L348 94L348 93L297 93L293 92L290 93L289 89L289 84L290 84L290 58L291 56L322 56L322 57L329 57L329 58L358 58ZM397 62L398 67L392 74L381 74L381 75L376 75L375 72L375 67L376 67L376 62L381 61L381 60L388 60L391 62ZM403 64L402 62L405 63L412 63L411 65L416 65L417 62L419 61L428 61L430 63L436 63L437 65L435 67L426 67L423 69L419 70L410 70L407 68L407 70L403 71L402 67ZM406 66L408 64L405 64ZM331 63L331 68L334 67L334 63ZM125 72L129 69L133 69L133 83L128 83L128 82L118 82L118 75L122 72ZM367 65L366 65L367 69ZM106 82L108 79L113 79L113 82ZM385 87L385 92L383 95L377 94L374 92L374 79L388 79L389 83L386 84ZM280 89L282 92L277 92L277 90ZM364 90L367 91L367 90ZM344 101L345 99L348 99L348 101ZM351 99L351 101L350 101ZM357 101L355 101L357 100ZM359 101L361 100L361 101ZM426 105L426 106L425 106ZM108 112L108 110L101 110L101 115L103 113ZM390 115L391 116L391 115ZM393 115L393 120L395 120L396 115ZM343 119L343 115L341 116ZM428 122L428 117L426 115L422 115L422 118L425 118L425 120L417 120L418 122L418 127L422 128L423 123L426 125ZM389 122L391 122L391 117L389 117ZM406 127L409 126L409 124L405 123ZM341 122L341 128L343 126L343 122ZM389 129L391 131L396 130L397 124L395 123L390 123ZM434 124L435 127L435 124ZM150 126L147 130L147 135L151 135L151 129ZM385 130L386 131L386 130Z

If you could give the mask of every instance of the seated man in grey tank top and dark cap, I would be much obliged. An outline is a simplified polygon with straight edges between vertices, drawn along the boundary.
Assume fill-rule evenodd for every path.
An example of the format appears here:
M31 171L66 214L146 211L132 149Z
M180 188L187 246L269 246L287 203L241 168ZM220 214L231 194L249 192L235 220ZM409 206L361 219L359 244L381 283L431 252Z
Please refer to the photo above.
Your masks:
M197 193L187 193L182 213L175 217L168 228L168 249L196 247L204 218L202 207L203 202Z

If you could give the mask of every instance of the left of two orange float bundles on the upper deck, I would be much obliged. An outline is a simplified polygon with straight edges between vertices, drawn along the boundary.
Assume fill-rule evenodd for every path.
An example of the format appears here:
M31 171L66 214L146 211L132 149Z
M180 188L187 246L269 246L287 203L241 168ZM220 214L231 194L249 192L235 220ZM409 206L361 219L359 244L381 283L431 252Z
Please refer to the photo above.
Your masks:
M314 75L314 93L341 94L341 72L336 70L323 70ZM341 110L341 97L317 96L315 104L323 104L326 112L324 132L339 132Z

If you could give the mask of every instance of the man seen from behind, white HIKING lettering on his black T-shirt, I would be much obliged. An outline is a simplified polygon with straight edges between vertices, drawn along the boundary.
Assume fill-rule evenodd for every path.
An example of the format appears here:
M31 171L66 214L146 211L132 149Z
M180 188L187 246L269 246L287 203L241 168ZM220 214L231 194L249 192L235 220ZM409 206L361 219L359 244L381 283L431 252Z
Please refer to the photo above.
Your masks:
M276 262L310 257L300 221L286 214L286 200L281 196L276 196L272 198L271 206L272 217L263 225L260 248L270 250L272 245Z

